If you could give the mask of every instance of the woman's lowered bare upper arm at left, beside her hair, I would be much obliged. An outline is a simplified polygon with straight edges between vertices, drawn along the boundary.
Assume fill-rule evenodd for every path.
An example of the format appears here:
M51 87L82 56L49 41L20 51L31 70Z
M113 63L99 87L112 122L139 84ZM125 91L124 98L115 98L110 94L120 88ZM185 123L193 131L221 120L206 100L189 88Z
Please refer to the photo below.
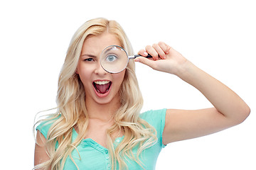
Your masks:
M35 157L34 157L34 165L41 164L43 162L48 161L49 156L46 152L46 137L44 137L41 132L37 130L36 134L36 146L35 146Z

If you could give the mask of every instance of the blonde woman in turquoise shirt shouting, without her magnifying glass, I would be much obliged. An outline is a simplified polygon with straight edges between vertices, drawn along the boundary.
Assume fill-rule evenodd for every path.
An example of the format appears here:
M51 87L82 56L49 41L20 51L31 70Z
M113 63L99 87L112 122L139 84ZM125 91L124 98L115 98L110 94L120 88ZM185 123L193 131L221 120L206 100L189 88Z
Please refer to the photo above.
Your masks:
M73 36L58 80L57 112L35 126L34 169L155 169L167 144L230 128L250 114L237 94L164 42L140 50L142 57L117 74L106 72L99 62L110 45L133 55L115 21L87 21ZM180 77L214 107L140 114L143 100L134 61Z

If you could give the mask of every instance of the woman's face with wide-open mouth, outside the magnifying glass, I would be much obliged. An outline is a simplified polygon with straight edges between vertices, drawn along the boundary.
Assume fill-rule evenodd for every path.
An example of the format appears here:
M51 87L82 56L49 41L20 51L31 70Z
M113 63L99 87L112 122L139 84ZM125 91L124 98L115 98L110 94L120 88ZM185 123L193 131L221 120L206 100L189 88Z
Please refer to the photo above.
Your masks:
M110 33L90 36L82 45L76 73L85 88L86 102L106 104L119 101L119 88L126 69L110 74L100 66L101 52L109 45L121 46L119 40Z

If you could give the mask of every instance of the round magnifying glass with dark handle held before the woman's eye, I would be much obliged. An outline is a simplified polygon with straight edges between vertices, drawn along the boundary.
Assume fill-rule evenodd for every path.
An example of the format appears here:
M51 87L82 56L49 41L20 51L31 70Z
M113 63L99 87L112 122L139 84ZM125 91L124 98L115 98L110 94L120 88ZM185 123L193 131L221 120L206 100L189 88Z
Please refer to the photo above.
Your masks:
M100 55L100 64L106 72L119 73L122 72L126 67L130 59L141 57L142 55L128 56L124 48L118 45L110 45L102 51ZM148 55L146 57L152 57Z

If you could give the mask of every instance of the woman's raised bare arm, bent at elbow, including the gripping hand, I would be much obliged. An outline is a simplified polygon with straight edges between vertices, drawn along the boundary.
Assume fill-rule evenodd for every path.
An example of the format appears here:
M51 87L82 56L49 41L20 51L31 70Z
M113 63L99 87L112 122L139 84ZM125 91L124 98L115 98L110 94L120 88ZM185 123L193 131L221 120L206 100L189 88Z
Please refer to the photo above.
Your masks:
M146 50L139 52L143 56L147 53L151 54L154 60L139 57L135 61L147 64L161 72L175 74L201 91L214 106L214 108L195 111L167 110L163 133L164 144L201 137L230 128L242 123L250 114L250 108L235 92L198 69L164 42L146 46Z

